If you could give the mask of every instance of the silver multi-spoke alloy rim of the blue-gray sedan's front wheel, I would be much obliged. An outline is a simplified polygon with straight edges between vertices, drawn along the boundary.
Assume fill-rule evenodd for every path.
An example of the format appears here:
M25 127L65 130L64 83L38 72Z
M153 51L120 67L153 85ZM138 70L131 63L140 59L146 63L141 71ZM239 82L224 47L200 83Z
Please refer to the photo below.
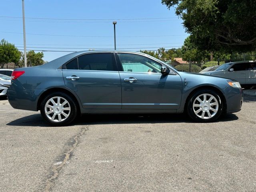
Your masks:
M218 112L218 100L211 94L201 94L193 102L193 110L201 119L210 119Z

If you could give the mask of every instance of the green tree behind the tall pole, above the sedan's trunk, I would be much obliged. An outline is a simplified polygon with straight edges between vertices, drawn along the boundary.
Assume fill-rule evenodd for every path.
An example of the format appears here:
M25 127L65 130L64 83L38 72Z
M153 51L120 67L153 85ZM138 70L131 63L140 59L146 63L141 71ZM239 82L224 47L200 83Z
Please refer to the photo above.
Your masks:
M27 64L28 66L38 66L46 63L43 60L44 53L38 52L35 53L34 51L27 52ZM24 64L24 54L22 53L22 64Z

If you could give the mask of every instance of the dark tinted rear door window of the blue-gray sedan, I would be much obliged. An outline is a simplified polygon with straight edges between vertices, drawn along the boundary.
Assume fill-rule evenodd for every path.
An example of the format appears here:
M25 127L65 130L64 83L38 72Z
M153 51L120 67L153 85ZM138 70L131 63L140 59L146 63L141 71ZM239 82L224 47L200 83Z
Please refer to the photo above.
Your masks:
M80 70L117 71L112 53L93 53L78 57Z

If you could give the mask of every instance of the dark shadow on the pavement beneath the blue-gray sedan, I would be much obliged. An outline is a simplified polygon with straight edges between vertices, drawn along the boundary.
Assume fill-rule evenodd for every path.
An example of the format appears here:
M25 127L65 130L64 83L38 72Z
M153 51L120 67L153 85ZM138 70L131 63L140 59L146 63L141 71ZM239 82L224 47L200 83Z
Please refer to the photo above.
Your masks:
M217 122L237 120L235 114L221 116ZM146 123L195 123L185 114L87 114L77 118L73 125L96 124L146 124ZM40 114L22 117L6 124L8 126L40 126L50 127Z

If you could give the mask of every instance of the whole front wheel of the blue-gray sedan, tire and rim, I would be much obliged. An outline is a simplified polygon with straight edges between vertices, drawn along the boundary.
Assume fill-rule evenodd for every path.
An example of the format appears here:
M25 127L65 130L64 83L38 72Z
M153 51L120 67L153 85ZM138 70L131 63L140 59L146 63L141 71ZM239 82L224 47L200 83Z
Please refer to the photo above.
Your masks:
M187 112L196 122L212 122L223 110L221 97L214 90L199 90L188 101Z

